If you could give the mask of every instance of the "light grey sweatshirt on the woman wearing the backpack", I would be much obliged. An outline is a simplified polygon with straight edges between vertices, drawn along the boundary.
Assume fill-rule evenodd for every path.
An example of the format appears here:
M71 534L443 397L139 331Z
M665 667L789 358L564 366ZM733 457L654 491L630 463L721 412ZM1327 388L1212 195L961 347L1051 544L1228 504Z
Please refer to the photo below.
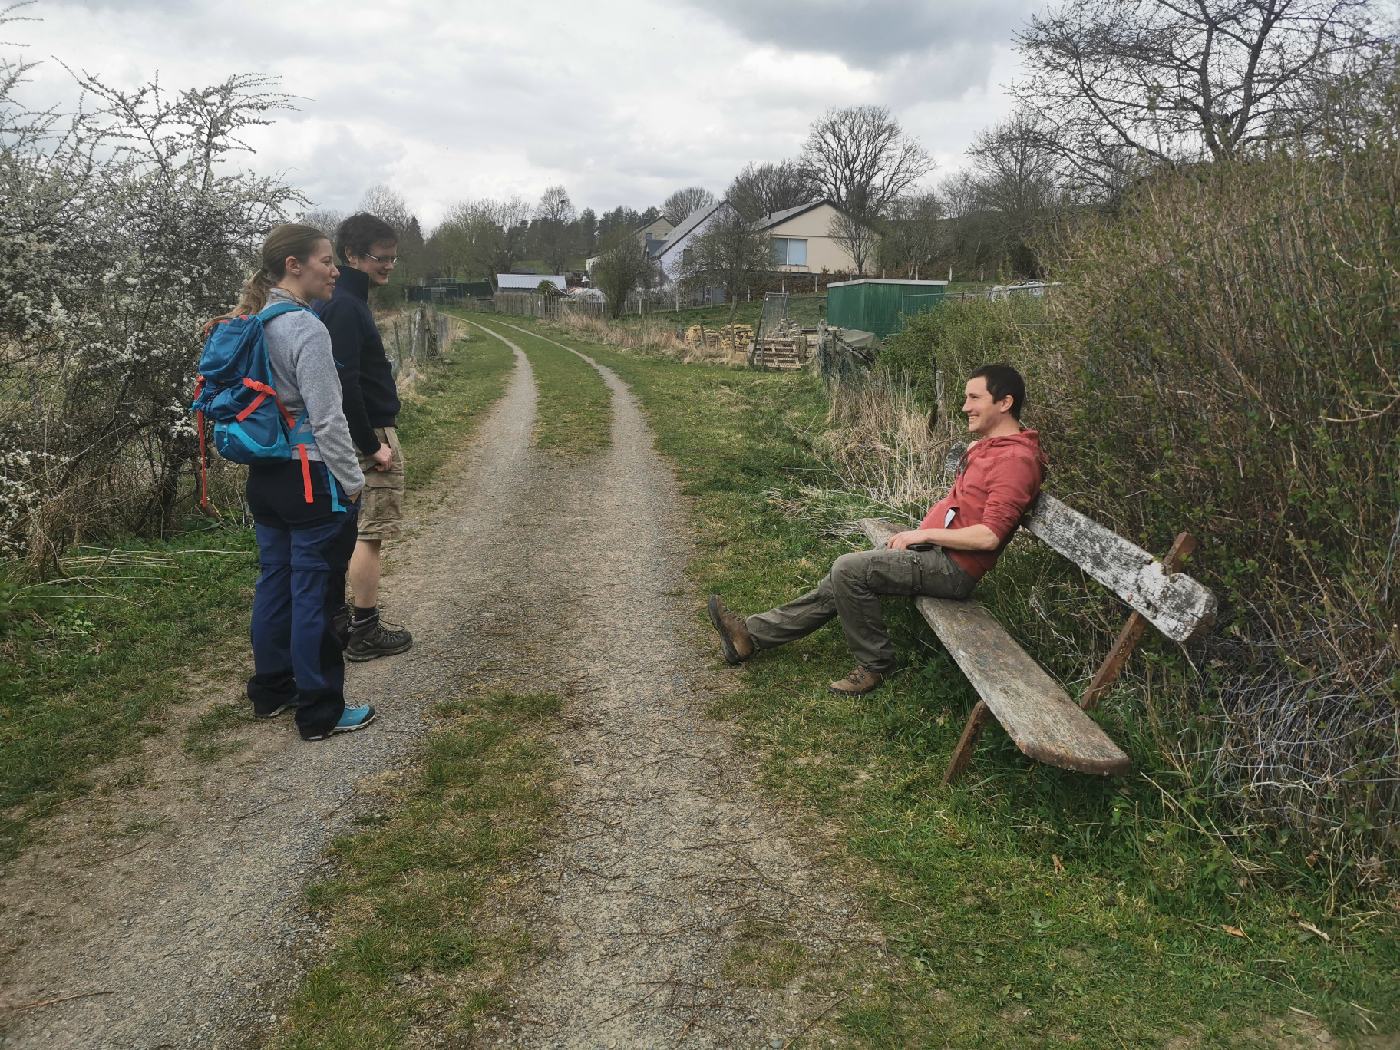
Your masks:
M267 305L273 302L305 305L281 288L267 295ZM340 377L330 353L330 333L309 309L273 318L265 333L277 398L298 420L309 413L316 444L307 448L307 456L323 462L346 496L354 496L364 489L364 473L340 407Z

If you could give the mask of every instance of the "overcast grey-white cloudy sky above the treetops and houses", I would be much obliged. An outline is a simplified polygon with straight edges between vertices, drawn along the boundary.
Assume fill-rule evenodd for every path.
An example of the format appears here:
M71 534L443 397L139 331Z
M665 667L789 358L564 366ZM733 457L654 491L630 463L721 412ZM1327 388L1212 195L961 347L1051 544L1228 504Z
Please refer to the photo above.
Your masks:
M388 182L431 228L454 202L563 183L598 213L722 193L792 157L830 106L879 104L938 162L1007 115L1012 35L1044 0L39 0L0 38L42 64L24 88L71 105L57 60L134 87L269 73L298 109L251 136L260 171L318 206ZM13 46L6 48L14 53ZM52 57L50 57L52 56Z

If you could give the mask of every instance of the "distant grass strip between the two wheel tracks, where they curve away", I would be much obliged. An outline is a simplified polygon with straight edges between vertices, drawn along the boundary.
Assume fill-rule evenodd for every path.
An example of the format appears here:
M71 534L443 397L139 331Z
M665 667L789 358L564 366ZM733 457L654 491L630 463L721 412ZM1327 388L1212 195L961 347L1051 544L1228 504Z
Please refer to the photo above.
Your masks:
M519 346L535 372L535 435L538 448L588 454L612 445L612 391L582 358L511 325L517 318L465 315Z

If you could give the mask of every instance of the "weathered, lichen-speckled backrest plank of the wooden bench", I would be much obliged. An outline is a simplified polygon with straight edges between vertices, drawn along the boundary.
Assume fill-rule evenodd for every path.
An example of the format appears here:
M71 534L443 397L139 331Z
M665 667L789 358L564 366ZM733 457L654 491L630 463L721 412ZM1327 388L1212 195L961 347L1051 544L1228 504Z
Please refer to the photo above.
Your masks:
M1215 619L1215 595L1184 573L1168 573L1135 543L1044 493L1021 522L1092 575L1172 641L1190 641Z

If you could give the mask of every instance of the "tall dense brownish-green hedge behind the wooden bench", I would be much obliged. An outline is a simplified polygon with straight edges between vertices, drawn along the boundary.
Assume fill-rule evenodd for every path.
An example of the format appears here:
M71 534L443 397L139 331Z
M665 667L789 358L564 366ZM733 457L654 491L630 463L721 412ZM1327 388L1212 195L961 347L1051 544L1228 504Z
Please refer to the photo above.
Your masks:
M951 302L882 356L925 396L932 356L949 412L972 367L1012 361L1057 494L1154 550L1201 538L1222 617L1155 694L1156 742L1317 844L1380 844L1400 809L1397 125L1155 178L1065 235L1057 294ZM1102 652L1114 626L1040 613L1051 645ZM1376 853L1348 850L1372 875Z

